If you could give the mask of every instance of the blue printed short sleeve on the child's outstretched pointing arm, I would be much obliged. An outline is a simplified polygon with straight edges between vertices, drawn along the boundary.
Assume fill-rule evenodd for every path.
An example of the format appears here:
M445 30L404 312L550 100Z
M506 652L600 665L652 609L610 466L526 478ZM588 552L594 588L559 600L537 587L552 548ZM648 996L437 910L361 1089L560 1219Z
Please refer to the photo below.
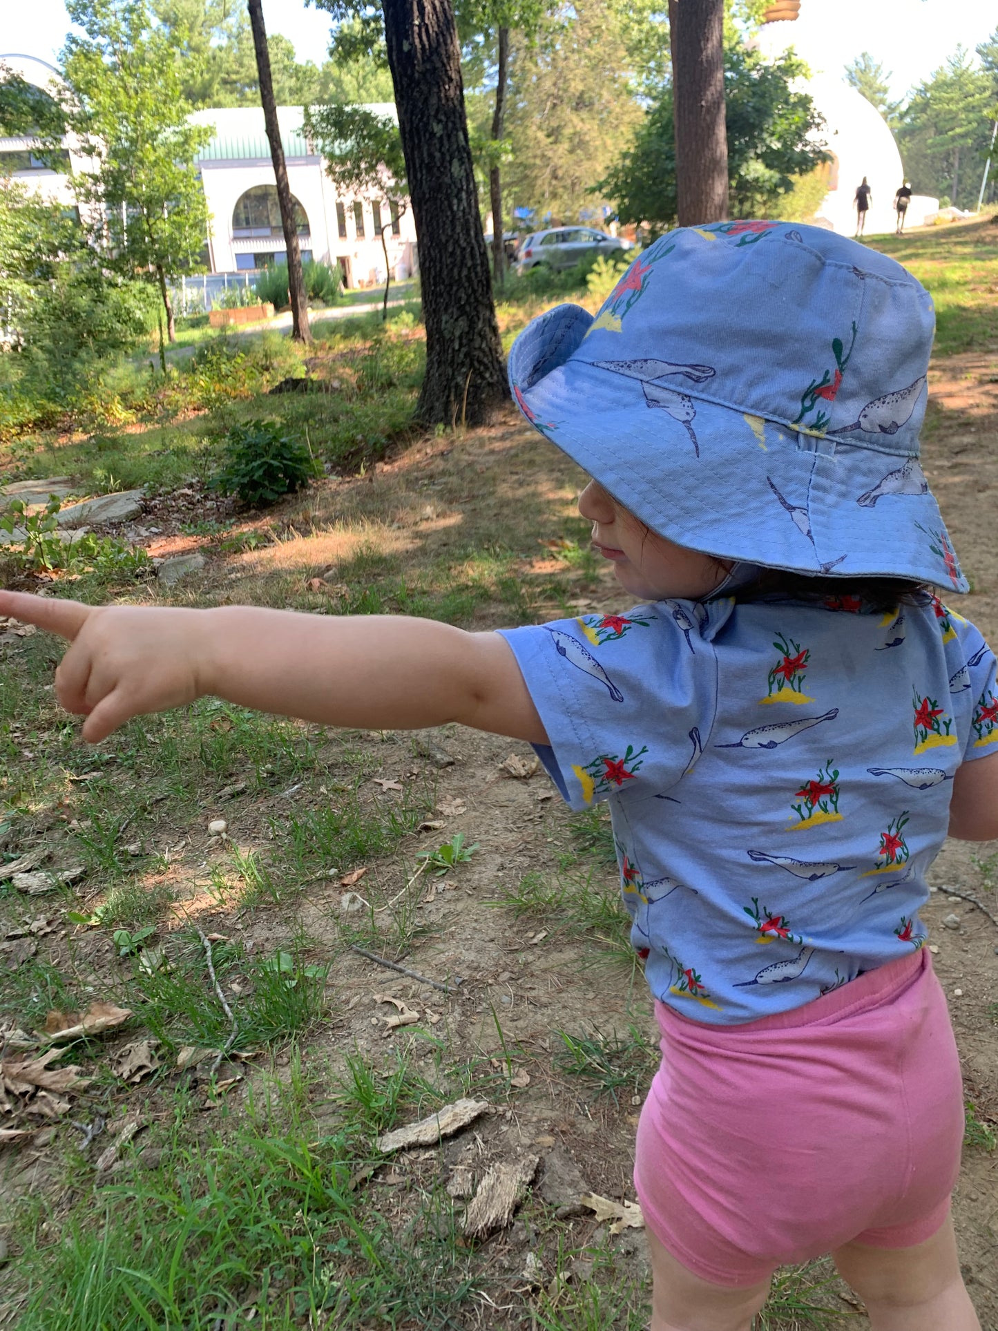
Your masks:
M538 755L574 809L668 792L713 724L712 636L727 618L699 602L656 602L502 630L548 735Z

